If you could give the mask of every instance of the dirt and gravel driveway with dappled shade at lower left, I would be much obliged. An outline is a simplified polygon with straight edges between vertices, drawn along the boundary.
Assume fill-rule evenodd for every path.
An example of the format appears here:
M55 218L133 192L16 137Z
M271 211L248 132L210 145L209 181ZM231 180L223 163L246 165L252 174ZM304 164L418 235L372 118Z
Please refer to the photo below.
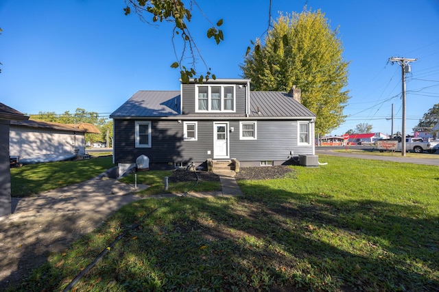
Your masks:
M146 186L139 185L138 190ZM134 188L111 178L92 180L12 200L0 217L0 291L100 226L124 204L139 200Z

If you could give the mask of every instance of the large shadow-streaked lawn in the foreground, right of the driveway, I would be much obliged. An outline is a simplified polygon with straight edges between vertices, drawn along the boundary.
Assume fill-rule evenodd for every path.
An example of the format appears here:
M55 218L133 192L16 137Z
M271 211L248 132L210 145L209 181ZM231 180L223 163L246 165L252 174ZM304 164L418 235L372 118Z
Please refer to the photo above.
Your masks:
M148 199L10 291L439 291L439 168L320 155L241 198ZM165 172L150 172L161 181Z

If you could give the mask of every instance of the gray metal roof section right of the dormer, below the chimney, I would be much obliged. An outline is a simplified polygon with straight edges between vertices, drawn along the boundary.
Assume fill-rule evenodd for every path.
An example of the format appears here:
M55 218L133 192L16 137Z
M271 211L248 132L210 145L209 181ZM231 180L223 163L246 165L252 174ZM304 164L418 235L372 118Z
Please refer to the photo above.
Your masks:
M316 117L305 105L294 100L286 92L250 91L250 117L313 118Z

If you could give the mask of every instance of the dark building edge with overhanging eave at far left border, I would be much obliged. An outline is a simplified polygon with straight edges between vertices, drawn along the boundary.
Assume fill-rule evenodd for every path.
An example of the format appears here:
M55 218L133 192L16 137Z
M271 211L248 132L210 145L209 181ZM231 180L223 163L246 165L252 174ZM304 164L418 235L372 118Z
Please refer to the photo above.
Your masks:
M27 120L29 117L20 111L0 103L0 216L11 213L11 176L9 131L10 123L15 120Z

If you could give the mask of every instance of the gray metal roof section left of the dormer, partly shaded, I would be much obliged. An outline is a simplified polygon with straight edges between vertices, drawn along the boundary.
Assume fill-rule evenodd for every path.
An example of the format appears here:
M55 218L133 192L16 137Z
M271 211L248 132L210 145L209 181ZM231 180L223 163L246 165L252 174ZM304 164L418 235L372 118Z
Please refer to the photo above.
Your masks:
M180 91L141 90L110 114L110 118L167 117L179 114Z

